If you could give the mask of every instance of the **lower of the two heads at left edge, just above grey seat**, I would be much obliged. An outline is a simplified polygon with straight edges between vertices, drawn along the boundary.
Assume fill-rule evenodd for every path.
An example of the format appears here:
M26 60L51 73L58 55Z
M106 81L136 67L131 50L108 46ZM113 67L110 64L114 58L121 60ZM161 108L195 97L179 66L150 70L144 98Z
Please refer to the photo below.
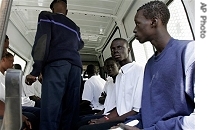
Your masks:
M0 62L1 72L4 73L7 69L13 68L13 62L14 62L14 56L9 52L5 53L2 56Z

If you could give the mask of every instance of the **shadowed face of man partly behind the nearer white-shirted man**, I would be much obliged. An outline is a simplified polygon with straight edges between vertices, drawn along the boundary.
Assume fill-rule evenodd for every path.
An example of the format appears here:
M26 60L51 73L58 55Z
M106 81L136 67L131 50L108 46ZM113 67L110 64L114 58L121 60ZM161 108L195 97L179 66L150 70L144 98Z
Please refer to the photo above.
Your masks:
M118 74L119 68L117 66L117 63L113 60L108 60L105 63L105 71L107 74L111 77L114 77Z

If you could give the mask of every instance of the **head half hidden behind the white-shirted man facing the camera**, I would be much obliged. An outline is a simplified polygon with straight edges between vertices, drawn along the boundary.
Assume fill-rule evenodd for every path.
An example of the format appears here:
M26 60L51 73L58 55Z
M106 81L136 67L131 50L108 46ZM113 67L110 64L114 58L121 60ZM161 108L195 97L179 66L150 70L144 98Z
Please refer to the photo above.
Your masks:
M119 68L119 63L113 57L109 57L104 61L104 69L108 76L116 77L119 73Z

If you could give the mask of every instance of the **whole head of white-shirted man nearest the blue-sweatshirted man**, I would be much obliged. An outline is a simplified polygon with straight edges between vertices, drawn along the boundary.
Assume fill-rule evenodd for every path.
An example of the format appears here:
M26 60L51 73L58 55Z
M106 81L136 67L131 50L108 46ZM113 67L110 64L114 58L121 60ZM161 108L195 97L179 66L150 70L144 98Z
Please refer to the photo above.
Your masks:
M111 55L121 66L130 63L130 47L128 41L123 38L115 38L110 46Z

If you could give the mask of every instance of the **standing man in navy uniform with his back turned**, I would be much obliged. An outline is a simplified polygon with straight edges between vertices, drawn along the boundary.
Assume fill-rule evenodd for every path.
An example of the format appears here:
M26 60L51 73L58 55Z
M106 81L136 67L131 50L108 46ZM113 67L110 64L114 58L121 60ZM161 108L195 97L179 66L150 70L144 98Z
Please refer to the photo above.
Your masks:
M79 115L84 42L79 27L67 15L66 1L56 0L51 12L42 11L32 49L31 85L42 73L40 130L70 130Z

